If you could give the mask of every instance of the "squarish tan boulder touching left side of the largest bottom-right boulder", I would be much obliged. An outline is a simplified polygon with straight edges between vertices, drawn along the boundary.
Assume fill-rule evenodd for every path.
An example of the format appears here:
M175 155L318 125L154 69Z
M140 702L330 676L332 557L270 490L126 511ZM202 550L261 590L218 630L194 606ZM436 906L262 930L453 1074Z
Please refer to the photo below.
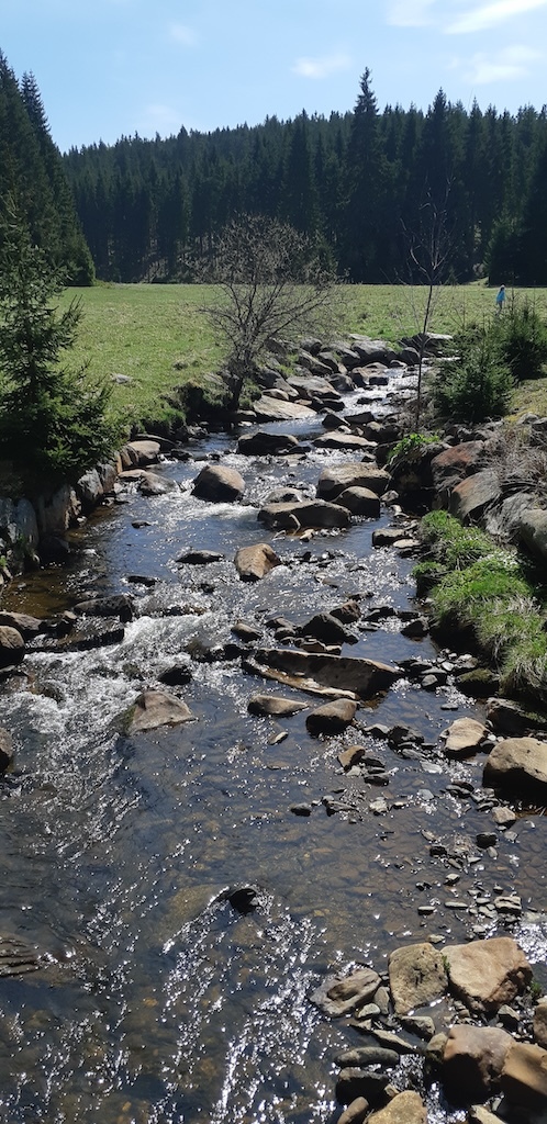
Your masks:
M389 987L397 1015L439 999L448 987L442 954L429 941L395 949L389 957Z

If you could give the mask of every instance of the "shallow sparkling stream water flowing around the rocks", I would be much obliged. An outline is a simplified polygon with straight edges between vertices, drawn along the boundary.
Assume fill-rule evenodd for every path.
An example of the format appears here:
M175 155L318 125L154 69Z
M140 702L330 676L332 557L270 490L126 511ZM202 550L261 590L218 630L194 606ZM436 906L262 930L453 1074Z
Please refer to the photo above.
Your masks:
M270 644L270 617L302 624L352 595L367 608L405 609L412 560L371 546L388 510L305 543L264 532L257 507L271 489L312 496L342 454L295 463L234 450L233 437L215 436L194 453L240 469L244 505L194 499L199 463L165 462L173 491L129 491L73 535L68 571L18 580L8 595L8 607L37 615L88 593L133 592L138 607L120 643L32 652L26 677L0 695L0 724L17 744L0 789L0 934L46 960L0 981L0 1113L10 1124L330 1124L340 1112L333 1055L359 1035L310 1004L326 973L355 962L382 971L393 948L430 933L463 940L477 921L466 906L491 891L518 890L519 936L535 961L544 955L546 821L523 815L494 853L477 849L477 832L492 828L481 760L407 759L355 728L313 738L306 711L249 715L253 694L287 689L244 674L235 652L219 658L235 622ZM284 564L262 582L239 581L236 549L264 540ZM189 547L224 560L178 563ZM128 581L138 575L146 583ZM396 615L357 635L351 655L438 656L429 638L402 636ZM191 669L179 694L195 720L128 738L123 715L176 662ZM472 713L481 708L450 680L436 694L402 680L357 719L406 723L434 746L452 717ZM338 754L356 742L385 762L387 788L343 773ZM470 780L476 799L447 791L454 778ZM386 809L375 814L379 796ZM325 797L340 810L329 814ZM303 803L311 815L294 815ZM432 840L461 856L457 892ZM241 886L255 887L252 909L231 892ZM430 1120L452 1116L461 1118L433 1097Z

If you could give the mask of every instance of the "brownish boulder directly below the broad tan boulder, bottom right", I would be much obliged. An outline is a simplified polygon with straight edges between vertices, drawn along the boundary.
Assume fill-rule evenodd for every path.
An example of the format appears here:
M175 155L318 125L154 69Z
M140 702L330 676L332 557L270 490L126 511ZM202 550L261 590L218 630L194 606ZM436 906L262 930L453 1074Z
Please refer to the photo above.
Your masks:
M452 1026L442 1058L442 1084L449 1099L455 1104L486 1100L500 1085L512 1042L497 1026Z

